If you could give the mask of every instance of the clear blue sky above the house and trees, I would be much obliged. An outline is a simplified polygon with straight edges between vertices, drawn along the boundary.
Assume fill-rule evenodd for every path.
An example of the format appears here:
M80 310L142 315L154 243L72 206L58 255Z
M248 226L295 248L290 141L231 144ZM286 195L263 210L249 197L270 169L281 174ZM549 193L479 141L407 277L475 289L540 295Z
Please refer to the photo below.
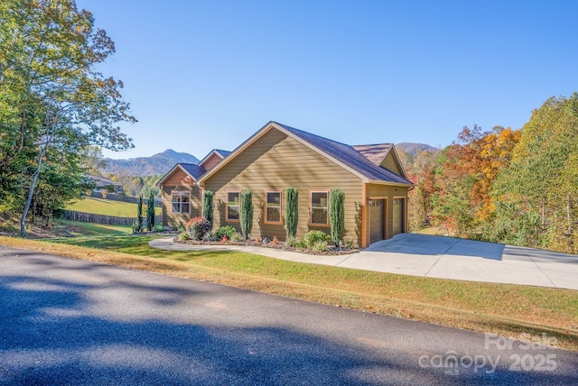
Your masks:
M578 1L79 0L139 120L129 152L202 158L270 120L349 144L445 146L578 91Z

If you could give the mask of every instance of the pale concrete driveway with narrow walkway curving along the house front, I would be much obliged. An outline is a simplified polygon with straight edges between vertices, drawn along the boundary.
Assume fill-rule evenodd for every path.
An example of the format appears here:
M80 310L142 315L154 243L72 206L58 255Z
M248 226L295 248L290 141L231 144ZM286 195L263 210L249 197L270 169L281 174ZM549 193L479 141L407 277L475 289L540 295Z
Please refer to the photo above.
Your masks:
M578 289L578 256L504 244L425 234L399 234L348 255L319 256L244 245L173 243L173 236L149 243L174 251L239 251L293 262L430 278L526 284Z

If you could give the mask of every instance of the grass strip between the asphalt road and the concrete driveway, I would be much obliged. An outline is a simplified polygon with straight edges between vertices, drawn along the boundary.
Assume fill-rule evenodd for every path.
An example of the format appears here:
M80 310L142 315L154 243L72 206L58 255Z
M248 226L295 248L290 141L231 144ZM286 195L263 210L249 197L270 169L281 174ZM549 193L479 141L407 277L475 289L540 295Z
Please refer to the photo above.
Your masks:
M513 338L545 333L558 347L578 351L578 291L350 270L250 253L161 251L148 246L154 237L55 243L0 237L0 244Z

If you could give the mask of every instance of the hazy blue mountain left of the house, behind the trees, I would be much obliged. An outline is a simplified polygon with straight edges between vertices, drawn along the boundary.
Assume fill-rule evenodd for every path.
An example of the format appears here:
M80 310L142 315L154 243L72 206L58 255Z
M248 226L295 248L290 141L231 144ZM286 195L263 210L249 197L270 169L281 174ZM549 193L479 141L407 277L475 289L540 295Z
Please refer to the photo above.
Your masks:
M168 149L150 157L136 157L126 160L106 158L105 161L107 161L107 167L102 170L103 173L144 177L154 174L165 174L177 162L196 164L199 159L188 152L175 152L172 149Z

